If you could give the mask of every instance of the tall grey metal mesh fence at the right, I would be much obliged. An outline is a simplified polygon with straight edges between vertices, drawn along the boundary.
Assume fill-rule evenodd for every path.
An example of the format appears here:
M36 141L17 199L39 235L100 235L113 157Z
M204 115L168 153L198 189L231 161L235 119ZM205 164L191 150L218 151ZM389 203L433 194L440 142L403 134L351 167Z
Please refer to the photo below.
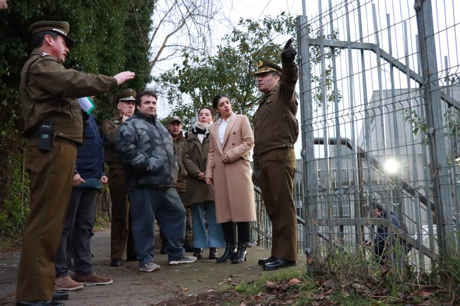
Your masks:
M339 247L373 260L363 243L382 236L418 271L458 254L454 3L320 0L298 17L309 255ZM388 213L373 216L373 201Z

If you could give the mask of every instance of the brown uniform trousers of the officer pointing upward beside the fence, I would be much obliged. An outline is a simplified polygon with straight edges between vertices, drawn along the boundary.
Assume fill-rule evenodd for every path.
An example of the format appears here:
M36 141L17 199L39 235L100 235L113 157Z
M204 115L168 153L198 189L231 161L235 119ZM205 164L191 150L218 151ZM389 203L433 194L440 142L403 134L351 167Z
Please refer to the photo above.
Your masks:
M292 198L295 174L293 148L278 148L259 156L259 184L272 221L272 256L297 260L297 215Z

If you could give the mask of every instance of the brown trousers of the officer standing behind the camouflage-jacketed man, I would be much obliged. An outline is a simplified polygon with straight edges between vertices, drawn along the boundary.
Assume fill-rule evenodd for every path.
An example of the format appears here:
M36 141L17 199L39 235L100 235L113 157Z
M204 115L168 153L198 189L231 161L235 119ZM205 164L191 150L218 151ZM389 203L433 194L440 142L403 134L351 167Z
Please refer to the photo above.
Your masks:
M123 169L110 168L109 189L112 200L110 258L123 259L125 247L127 247L127 257L135 257L132 231L130 230L129 201L125 188L125 171Z

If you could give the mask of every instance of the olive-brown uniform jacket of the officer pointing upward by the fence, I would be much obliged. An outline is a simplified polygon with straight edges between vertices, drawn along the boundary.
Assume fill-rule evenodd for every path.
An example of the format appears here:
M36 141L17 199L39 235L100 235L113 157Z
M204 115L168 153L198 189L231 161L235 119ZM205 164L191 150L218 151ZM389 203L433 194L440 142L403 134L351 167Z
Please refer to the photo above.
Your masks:
M298 136L295 84L298 68L295 62L282 63L279 86L259 100L254 114L254 163L258 156L282 147L294 147Z

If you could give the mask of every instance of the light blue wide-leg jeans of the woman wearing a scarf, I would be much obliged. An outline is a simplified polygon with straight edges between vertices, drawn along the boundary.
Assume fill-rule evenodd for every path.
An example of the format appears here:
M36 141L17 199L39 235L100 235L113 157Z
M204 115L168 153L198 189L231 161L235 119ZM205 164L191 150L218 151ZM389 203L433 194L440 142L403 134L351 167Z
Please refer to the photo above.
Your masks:
M214 201L194 203L190 206L193 224L193 245L195 247L225 246L222 226L216 223L216 205ZM208 231L204 226L204 214L208 220Z

